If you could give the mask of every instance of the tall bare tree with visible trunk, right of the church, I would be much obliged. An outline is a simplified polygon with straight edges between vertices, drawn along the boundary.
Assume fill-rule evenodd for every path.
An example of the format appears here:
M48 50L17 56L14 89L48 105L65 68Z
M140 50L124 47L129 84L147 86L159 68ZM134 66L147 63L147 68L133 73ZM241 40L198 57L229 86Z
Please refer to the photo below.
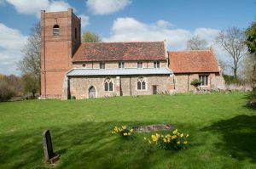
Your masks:
M229 28L226 31L220 31L216 37L216 42L224 48L232 58L233 74L237 79L237 70L241 58L247 53L247 46L245 44L245 32L236 27Z

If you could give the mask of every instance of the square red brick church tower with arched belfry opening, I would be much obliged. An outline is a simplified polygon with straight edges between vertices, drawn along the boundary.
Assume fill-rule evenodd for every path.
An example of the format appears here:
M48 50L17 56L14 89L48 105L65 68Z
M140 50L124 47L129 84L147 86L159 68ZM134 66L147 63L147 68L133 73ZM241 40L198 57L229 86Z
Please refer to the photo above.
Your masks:
M61 98L63 81L81 43L81 20L69 8L63 12L41 11L41 95Z

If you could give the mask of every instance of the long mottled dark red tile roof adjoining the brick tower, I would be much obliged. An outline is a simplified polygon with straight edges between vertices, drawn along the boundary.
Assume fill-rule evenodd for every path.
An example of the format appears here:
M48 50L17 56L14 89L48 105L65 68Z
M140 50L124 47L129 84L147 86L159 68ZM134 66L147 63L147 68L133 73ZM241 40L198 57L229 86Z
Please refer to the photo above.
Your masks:
M164 42L86 42L73 62L118 60L166 60Z

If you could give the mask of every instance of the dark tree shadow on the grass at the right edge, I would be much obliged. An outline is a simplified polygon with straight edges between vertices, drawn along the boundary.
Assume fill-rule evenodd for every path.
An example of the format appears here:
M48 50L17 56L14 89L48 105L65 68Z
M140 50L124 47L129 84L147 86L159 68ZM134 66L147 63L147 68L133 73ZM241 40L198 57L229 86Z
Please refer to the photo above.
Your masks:
M256 116L237 115L228 120L218 121L203 131L218 132L223 140L215 144L224 154L229 153L239 161L248 159L256 162Z

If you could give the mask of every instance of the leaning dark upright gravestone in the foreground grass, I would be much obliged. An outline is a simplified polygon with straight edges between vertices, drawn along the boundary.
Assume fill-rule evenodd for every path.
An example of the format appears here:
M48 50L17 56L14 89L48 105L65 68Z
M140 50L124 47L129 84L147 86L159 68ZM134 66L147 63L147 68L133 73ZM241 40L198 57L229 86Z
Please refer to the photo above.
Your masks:
M59 155L55 155L49 130L43 132L44 160L49 163L54 163L59 159Z

